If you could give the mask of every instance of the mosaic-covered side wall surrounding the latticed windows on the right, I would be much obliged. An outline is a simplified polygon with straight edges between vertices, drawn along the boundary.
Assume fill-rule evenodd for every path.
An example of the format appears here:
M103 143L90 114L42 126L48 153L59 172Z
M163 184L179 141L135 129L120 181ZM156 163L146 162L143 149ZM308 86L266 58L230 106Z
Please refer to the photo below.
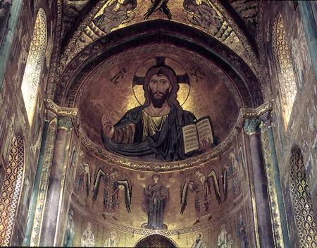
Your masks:
M280 180L287 213L287 225L292 247L299 247L299 237L295 225L294 207L292 207L291 193L291 155L292 148L298 146L303 154L306 180L310 187L310 197L314 204L315 218L317 206L317 84L316 75L309 54L307 37L304 32L302 16L296 1L270 1L263 7L263 30L266 37L266 56L270 68L272 99L275 100L273 110L273 132L275 147L280 169ZM273 25L275 18L282 16L290 51L292 69L294 72L297 94L290 116L290 122L285 128L282 104L280 101L280 81L278 65L274 57ZM300 223L299 225L304 225Z

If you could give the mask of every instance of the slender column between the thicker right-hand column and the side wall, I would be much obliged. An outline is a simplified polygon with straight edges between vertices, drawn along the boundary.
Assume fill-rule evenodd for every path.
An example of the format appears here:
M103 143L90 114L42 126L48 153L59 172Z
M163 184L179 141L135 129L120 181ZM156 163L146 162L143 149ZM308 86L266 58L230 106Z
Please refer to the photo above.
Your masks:
M271 125L271 113L267 112L260 116L260 119L263 121L266 129L268 130L268 142L270 144L271 150L271 159L272 159L272 166L274 172L274 181L276 187L276 197L278 198L278 210L280 211L280 223L282 225L282 236L283 242L285 247L290 247L290 238L287 232L287 221L286 221L286 213L284 207L284 199L282 195L282 187L280 184L280 169L278 168L278 157L276 156L276 149L275 149L275 142L274 142L274 135Z

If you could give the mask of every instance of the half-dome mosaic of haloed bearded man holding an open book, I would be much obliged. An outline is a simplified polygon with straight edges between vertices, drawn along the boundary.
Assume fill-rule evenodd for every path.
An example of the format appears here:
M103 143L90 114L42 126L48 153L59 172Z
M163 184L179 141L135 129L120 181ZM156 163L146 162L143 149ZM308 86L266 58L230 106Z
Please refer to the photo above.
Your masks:
M118 54L81 87L76 99L87 137L106 151L142 161L180 161L216 147L241 106L222 70L169 45Z

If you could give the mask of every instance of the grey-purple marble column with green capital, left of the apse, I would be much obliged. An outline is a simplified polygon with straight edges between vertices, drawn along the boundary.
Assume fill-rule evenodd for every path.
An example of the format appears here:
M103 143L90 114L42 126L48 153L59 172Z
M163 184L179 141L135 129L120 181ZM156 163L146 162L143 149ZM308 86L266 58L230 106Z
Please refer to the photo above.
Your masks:
M63 185L63 171L68 158L70 132L73 128L70 117L58 117L58 129L54 156L49 176L49 185L46 194L46 204L43 215L40 246L54 246L56 224L58 221L58 208Z

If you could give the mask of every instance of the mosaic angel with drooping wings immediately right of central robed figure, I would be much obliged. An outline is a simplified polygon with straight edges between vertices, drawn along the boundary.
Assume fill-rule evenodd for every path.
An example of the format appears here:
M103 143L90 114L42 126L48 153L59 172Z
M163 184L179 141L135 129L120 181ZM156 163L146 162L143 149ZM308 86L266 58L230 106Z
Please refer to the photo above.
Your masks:
M201 173L199 169L194 171L192 178L185 178L180 187L180 213L184 213L187 206L187 197L189 192L195 193L195 212L196 221L194 225L199 223L201 216L209 216L211 219L211 181L213 182L213 190L216 194L218 203L221 203L219 182L216 172L212 170L208 175Z

